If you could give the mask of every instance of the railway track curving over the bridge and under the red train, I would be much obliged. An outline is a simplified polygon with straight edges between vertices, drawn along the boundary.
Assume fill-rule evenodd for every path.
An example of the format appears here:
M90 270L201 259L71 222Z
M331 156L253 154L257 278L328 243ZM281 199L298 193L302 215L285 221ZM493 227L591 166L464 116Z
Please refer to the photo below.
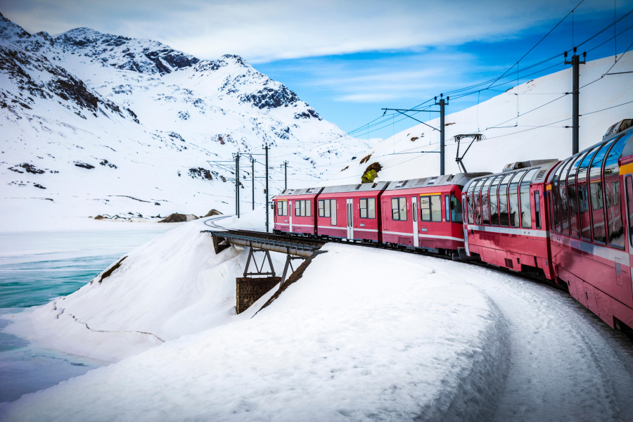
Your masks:
M315 241L318 243L345 243L347 245L362 246L363 248L395 250L397 252L410 253L414 255L423 255L426 257L433 257L440 260L449 260L449 261L453 260L452 257L449 257L447 255L441 255L441 254L437 254L433 252L426 252L424 250L408 249L406 247L390 247L389 245L386 245L386 244L366 243L366 242L361 242L361 241L347 241L343 239L333 239L333 238L317 240L317 239L309 238L307 236L292 236L288 234L270 234L270 233L264 233L262 231L236 230L236 229L231 229L230 227L217 224L219 221L222 221L229 217L231 216L218 217L215 219L207 219L205 221L205 225L211 227L212 229L221 229L221 230L229 231L230 234L238 235L238 236L241 235L245 237L257 237L257 238L271 239L271 240L274 239L275 241L285 241L288 243L296 243L298 241L299 242L309 241L310 243L315 243ZM518 276L523 279L528 279L530 281L534 281L536 283L543 284L545 286L555 288L556 290L560 290L563 293L569 294L569 290L566 286L563 286L561 284L556 284L546 279L544 276L539 276L537 274L529 274L529 273L520 272L520 271L511 271L510 269L506 269L504 267L497 267L495 265L487 264L485 262L480 262L480 261L464 261L464 260L456 260L456 261L462 262L464 264L475 265L477 267L495 269L501 273L512 274L513 276Z

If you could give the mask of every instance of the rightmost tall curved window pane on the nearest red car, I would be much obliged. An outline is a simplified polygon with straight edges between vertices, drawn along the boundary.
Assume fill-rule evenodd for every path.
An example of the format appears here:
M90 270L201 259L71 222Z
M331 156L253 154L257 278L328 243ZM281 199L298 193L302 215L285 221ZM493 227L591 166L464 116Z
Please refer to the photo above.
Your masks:
M604 187L606 198L607 234L609 245L624 249L624 226L622 225L622 206L620 205L620 166L618 160L622 149L631 135L622 136L613 143L604 162Z

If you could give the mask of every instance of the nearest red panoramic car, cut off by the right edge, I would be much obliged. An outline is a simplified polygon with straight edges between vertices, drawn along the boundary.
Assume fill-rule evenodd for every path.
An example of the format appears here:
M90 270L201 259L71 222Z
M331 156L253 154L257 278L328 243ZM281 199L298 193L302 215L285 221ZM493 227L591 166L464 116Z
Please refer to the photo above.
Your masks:
M602 141L549 175L551 260L558 281L612 328L633 327L633 127L623 120Z

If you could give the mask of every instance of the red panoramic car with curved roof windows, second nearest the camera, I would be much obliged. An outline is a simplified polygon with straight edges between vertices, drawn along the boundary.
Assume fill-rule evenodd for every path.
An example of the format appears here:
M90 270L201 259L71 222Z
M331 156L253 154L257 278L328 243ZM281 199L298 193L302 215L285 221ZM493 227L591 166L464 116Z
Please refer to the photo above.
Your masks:
M558 160L513 162L472 179L462 194L466 255L553 279L545 215L546 177ZM540 271L539 271L540 270Z

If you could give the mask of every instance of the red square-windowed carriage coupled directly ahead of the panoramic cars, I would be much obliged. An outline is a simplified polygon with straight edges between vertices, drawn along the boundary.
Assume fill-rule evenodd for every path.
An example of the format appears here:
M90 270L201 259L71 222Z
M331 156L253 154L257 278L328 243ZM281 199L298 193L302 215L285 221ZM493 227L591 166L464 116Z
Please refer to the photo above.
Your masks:
M381 196L383 243L430 252L463 247L461 188L482 174L489 173L390 183Z

